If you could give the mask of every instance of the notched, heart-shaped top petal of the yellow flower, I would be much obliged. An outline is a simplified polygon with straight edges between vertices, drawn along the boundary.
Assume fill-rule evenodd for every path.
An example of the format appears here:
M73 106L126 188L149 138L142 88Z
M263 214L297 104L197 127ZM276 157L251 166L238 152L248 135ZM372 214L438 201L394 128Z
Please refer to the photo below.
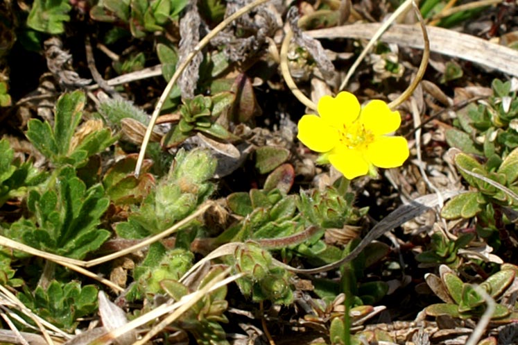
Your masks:
M322 96L318 101L318 115L334 128L349 125L360 114L360 103L350 92L340 92L336 97Z

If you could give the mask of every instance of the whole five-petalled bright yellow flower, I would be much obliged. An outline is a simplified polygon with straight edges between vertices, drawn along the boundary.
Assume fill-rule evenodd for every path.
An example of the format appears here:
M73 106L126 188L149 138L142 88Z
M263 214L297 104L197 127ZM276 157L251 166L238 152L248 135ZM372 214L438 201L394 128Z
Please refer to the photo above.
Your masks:
M399 112L380 100L361 108L349 92L323 96L317 115L304 115L297 137L309 149L322 153L319 162L330 162L346 178L376 174L376 168L399 167L408 158L404 137L389 136L399 128Z

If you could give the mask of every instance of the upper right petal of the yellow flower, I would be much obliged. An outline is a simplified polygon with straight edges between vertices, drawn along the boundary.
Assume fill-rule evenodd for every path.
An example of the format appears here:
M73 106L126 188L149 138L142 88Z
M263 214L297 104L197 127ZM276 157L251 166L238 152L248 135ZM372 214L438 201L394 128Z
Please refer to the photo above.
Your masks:
M391 133L401 125L399 112L388 108L387 103L374 99L361 110L360 121L374 135Z

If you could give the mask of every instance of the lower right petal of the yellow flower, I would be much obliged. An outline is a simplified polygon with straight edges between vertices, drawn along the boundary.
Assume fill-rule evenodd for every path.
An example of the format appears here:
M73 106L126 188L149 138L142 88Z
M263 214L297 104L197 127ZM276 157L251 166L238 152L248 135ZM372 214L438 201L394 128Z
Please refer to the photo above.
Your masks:
M365 155L377 167L400 167L408 158L408 143L404 137L377 137L369 144Z

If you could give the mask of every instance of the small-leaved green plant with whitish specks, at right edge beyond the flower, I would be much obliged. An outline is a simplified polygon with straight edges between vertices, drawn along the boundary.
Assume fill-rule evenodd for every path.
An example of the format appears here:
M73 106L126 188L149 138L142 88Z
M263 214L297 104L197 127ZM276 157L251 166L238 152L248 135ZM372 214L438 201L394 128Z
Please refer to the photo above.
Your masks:
M465 153L485 155L494 167L518 147L518 98L510 81L494 79L491 86L487 101L457 113L456 128L446 132L446 140Z

